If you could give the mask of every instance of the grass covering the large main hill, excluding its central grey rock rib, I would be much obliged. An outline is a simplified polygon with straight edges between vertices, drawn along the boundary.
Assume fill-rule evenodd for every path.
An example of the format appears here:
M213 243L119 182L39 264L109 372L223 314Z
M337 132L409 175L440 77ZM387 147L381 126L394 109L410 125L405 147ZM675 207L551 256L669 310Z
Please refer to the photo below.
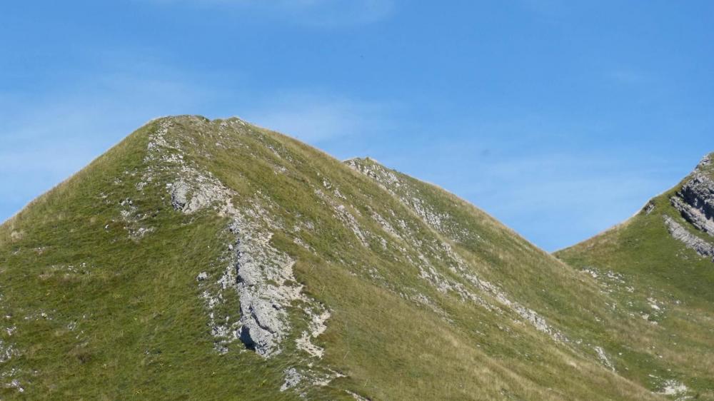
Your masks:
M632 360L615 355L625 342L655 330L652 325L613 311L618 298L595 280L463 200L401 175L404 186L392 195L313 148L260 128L236 128L236 121L228 121L228 128L226 121L202 118L170 121L187 158L236 191L236 205L266 199L284 228L273 245L297 260L306 293L332 310L318 339L326 355L317 363L346 377L306 390L309 398L351 399L343 392L350 389L374 400L658 399L643 387L658 386L644 372L662 364L639 345L630 344ZM277 391L283 370L304 362L292 342L271 360L239 344L226 355L213 350L195 278L223 269L227 222L209 211L174 211L168 177L137 189L148 134L157 123L0 227L1 312L8 317L2 324L16 328L0 336L18 350L0 372L4 382L16 379L25 387L21 395L5 388L5 396L296 398ZM329 192L324 181L344 198L328 196L345 203L371 233L366 245L316 196L318 188ZM399 200L400 191L418 193L448 216L443 227L419 218ZM140 223L122 222L119 203L127 198L145 215ZM386 233L370 218L373 212L395 226L403 221L401 238ZM314 228L292 229L306 222ZM155 230L132 240L132 224ZM296 245L296 237L311 250ZM445 254L426 251L441 243L450 244L473 274L537 310L570 342L555 342L508 308L488 310L419 278L413 260L424 252L440 274L478 292L448 268ZM415 295L431 305L415 302ZM224 306L238 310L238 300ZM680 344L689 355L690 344ZM611 355L620 375L603 366L595 345ZM698 377L680 369L682 363L673 365L678 374Z

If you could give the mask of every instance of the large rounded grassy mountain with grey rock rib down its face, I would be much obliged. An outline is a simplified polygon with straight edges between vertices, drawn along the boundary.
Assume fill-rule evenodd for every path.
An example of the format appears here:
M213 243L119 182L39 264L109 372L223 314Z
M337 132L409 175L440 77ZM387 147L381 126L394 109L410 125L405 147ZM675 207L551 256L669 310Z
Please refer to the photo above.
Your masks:
M0 226L0 392L714 399L710 260L672 244L691 268L556 258L369 158L159 118Z

